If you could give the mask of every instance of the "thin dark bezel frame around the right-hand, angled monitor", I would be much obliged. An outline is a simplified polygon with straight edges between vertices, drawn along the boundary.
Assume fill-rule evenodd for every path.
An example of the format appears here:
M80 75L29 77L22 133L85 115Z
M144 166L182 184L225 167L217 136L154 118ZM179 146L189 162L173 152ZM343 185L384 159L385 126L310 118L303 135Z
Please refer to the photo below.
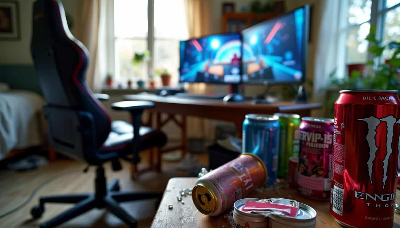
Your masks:
M309 37L309 31L310 31L310 5L305 4L304 6L298 7L292 11L286 12L284 14L280 14L279 16L264 20L263 22L260 22L254 26L251 26L249 28L246 28L240 32L240 37L242 40L242 54L243 54L243 34L246 32L249 32L251 30L254 30L260 26L263 26L263 24L270 22L271 20L278 20L279 18L282 18L283 16L286 16L288 14L294 13L296 10L299 10L301 8L304 8L304 20L303 20L303 33L304 33L304 40L303 40L303 63L302 63L302 74L303 77L301 80L288 80L288 81L275 81L275 80L260 80L260 81L243 81L243 74L242 78L240 79L240 82L243 85L287 85L287 84L302 84L304 81L306 81L306 72L307 72L307 52L308 52L308 37ZM240 55L240 59L242 60L242 55ZM241 69L240 72L243 72L243 62L241 61Z

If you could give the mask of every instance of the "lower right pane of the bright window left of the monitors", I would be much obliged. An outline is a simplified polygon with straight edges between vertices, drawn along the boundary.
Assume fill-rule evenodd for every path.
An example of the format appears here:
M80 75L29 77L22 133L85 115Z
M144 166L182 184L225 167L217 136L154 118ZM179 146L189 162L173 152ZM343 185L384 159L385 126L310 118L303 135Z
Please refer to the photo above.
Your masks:
M171 84L178 83L179 42L177 40L156 40L154 42L154 67L164 67L172 75Z

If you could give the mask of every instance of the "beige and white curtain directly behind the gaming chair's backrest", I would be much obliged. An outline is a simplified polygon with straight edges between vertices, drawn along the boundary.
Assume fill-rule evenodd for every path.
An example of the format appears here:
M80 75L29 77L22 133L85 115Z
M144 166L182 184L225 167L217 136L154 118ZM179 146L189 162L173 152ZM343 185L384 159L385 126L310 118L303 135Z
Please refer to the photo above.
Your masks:
M86 83L95 92L101 91L106 71L105 10L105 0L79 1L75 23L76 38L90 54Z

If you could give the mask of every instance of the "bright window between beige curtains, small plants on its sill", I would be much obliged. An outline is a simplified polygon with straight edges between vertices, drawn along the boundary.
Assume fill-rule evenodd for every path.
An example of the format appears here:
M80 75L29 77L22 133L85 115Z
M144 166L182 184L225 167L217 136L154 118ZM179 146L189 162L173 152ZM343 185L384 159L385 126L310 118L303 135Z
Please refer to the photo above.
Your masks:
M115 76L148 81L158 67L167 68L172 82L178 77L179 40L188 38L184 0L114 0ZM149 29L150 28L150 29ZM135 52L150 51L142 78L132 63Z

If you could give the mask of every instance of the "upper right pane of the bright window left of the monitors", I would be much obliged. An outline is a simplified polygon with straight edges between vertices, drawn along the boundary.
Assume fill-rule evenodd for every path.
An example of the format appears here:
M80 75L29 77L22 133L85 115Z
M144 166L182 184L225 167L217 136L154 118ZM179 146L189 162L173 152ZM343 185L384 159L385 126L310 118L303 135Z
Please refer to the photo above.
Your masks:
M186 40L188 30L184 0L154 0L154 36Z

